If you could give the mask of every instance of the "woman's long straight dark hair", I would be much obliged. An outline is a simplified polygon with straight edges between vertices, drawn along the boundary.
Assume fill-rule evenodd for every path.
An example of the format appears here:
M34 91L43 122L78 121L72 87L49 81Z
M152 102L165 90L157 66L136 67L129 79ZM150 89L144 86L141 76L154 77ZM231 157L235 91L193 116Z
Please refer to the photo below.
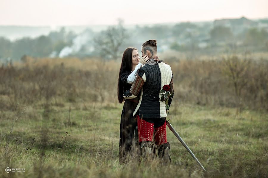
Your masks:
M117 94L118 94L119 103L122 103L124 101L123 93L124 93L124 89L125 89L124 84L121 81L121 74L123 73L123 71L131 72L133 50L137 50L137 49L134 47L128 47L123 53L121 67L120 67L120 71L119 71L119 77L118 77L118 85L117 85Z

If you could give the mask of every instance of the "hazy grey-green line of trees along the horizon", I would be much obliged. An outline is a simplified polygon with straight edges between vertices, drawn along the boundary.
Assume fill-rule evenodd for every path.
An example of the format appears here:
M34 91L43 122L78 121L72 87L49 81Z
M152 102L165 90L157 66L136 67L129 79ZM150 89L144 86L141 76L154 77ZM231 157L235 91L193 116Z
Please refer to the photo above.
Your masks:
M234 34L230 27L214 26L212 23L198 25L185 22L175 25L135 26L125 28L122 21L118 25L110 26L106 30L93 32L94 36L88 42L81 44L76 53L99 55L102 58L118 58L126 46L140 47L147 39L157 39L161 42L160 51L167 49L177 51L211 50L216 47L253 47L254 50L268 51L268 31L265 28L252 27L244 29L239 34ZM48 35L36 38L24 37L10 41L0 37L0 59L11 58L18 60L23 55L33 57L57 57L66 46L72 46L77 37L72 31L61 28L60 31L52 31ZM162 48L166 46L165 48ZM86 53L91 47L94 52ZM83 51L85 53L83 53Z

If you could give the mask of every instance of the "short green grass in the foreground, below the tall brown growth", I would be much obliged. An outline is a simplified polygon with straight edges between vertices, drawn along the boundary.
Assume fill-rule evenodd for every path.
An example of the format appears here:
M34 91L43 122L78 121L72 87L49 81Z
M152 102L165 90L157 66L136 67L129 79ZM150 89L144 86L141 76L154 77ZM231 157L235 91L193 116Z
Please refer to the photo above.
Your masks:
M173 102L170 123L203 164L203 172L167 128L172 163L119 164L123 105L17 105L0 112L0 177L267 177L268 115ZM5 168L25 172L6 173Z

